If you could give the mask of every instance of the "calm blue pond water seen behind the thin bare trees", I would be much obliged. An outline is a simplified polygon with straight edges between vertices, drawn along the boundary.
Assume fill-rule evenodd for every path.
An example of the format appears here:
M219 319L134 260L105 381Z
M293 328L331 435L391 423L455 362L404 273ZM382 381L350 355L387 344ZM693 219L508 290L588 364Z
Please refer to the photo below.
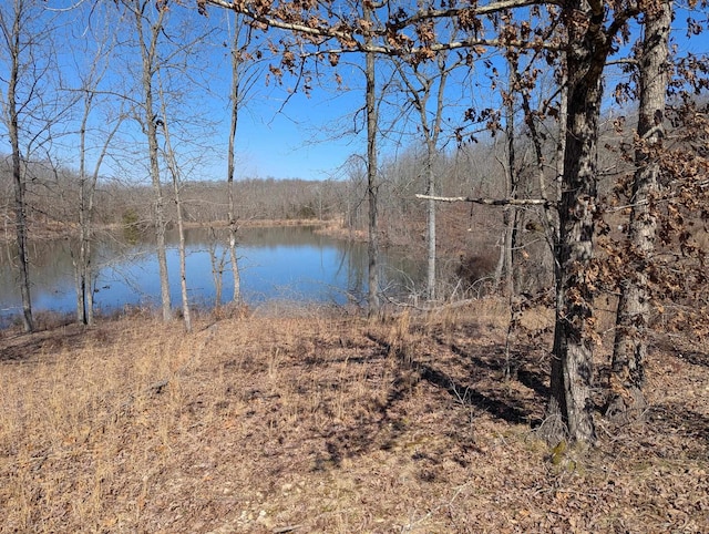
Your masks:
M214 266L223 265L222 300L234 285L226 235L208 229L186 233L187 287L193 305L214 306ZM160 278L151 243L126 246L122 236L106 237L95 245L95 307L111 311L125 305L155 306L160 301ZM173 305L179 305L179 257L176 233L168 233L167 251ZM242 292L249 304L270 299L301 302L361 301L367 294L367 245L320 236L309 227L245 228L238 247ZM31 256L32 306L34 310L70 312L75 308L74 275L69 240L33 244ZM21 310L18 278L10 265L11 250L0 258L0 316L6 320ZM421 279L421 261L384 254L382 284L388 292L411 289Z

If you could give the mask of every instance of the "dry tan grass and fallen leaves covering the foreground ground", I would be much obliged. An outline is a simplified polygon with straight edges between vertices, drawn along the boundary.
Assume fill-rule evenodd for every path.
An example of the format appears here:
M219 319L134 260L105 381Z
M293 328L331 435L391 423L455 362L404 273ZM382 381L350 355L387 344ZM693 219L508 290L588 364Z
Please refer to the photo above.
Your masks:
M549 336L505 382L505 329L489 299L4 330L0 532L707 532L707 351L658 337L647 422L563 450Z

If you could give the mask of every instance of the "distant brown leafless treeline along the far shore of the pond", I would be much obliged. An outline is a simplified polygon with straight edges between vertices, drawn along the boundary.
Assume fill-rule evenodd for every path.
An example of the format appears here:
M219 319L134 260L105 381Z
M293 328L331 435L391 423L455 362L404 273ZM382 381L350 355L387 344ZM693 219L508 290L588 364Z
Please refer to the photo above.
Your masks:
M525 151L520 141L520 153ZM554 143L548 142L548 161L554 161ZM439 191L449 196L504 196L504 146L494 140L458 146L439 155L436 176ZM412 146L381 165L379 187L380 236L386 246L407 247L412 255L425 254L425 203L415 198L425 192L422 175L422 146ZM526 158L520 160L521 184L524 195L534 197L538 188L534 167ZM604 153L606 168L616 170L617 158ZM81 179L69 167L55 167L48 162L35 162L25 168L29 238L47 235L47 229L66 232L79 222ZM275 178L243 178L236 182L237 218L242 224L254 220L326 220L339 225L343 236L362 238L367 235L367 170L358 158L341 168L339 179L306 181ZM609 174L605 189L615 184ZM9 158L0 163L0 187L6 236L12 238L12 176ZM165 192L169 187L164 187ZM185 182L181 186L183 215L188 224L226 225L226 181ZM99 181L94 198L94 223L100 226L147 230L152 225L154 194L147 183L106 178ZM168 224L176 219L173 202L167 202L165 215ZM551 283L551 253L541 234L541 210L520 212L520 248L531 258L520 268L525 287ZM492 275L502 247L503 210L467 204L441 204L438 214L439 269L443 279L463 278L474 281Z

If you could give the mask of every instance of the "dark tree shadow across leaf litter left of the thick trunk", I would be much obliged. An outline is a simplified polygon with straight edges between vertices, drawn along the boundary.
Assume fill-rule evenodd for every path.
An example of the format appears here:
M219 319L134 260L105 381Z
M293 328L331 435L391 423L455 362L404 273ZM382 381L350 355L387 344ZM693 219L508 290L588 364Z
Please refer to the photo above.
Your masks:
M474 348L462 348L455 345L434 343L436 355L430 358L412 358L405 351L392 347L386 339L373 333L367 338L373 342L367 357L350 359L356 362L371 362L386 358L397 358L397 374L391 381L386 401L379 405L378 414L361 421L360 424L338 428L322 434L326 439L325 451L316 462L316 469L326 465L339 466L345 458L356 458L371 450L390 450L401 446L411 438L407 438L409 420L408 401L414 398L417 388L429 383L449 397L443 401L442 411L450 418L461 418L462 413L486 413L511 424L536 425L544 413L548 387L544 384L544 370L532 359L524 360L521 355L533 353L532 350L520 350L515 353L515 373L504 382L502 369L504 348L494 347L490 356L474 351ZM393 356L392 356L393 355ZM535 367L536 366L536 367ZM453 378L453 377L459 378ZM461 379L460 377L469 377ZM454 410L453 405L465 408ZM433 410L433 408L431 409ZM463 421L454 428L469 427ZM449 427L450 428L450 427ZM462 430L461 430L462 434ZM460 435L461 450L475 449L473 438ZM417 454L423 454L418 450ZM434 458L432 455L432 458Z

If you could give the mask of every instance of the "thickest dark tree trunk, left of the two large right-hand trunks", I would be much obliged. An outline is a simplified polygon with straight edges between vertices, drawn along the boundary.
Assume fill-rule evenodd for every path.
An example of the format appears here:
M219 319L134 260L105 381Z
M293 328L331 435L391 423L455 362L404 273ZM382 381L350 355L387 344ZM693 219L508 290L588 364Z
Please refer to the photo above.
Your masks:
M604 31L604 4L593 2L593 6L595 11L586 28L569 28L566 54L568 107L559 242L555 250L559 276L556 280L549 400L549 415L561 419L567 437L587 443L596 441L590 392L595 342L593 238L598 117L602 75L613 38Z

